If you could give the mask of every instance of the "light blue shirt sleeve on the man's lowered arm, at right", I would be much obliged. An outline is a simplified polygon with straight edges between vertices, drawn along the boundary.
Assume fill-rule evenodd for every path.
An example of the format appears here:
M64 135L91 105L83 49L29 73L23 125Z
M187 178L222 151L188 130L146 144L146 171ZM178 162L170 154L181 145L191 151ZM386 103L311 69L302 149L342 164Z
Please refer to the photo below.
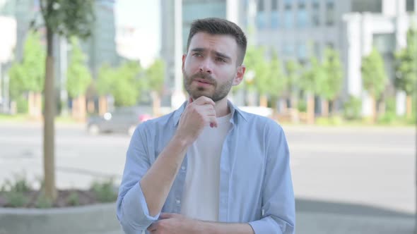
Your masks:
M270 122L271 123L271 122ZM283 129L277 123L266 126L266 169L262 190L262 219L250 222L255 234L295 233L295 198L290 156Z

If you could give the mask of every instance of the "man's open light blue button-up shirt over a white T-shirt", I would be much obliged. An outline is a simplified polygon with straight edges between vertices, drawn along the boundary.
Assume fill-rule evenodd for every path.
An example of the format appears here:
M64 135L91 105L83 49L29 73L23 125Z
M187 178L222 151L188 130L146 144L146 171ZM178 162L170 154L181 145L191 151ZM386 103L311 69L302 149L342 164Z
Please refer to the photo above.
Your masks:
M125 233L141 233L150 216L139 181L177 130L180 109L136 128L127 150L117 199L117 218ZM294 233L295 199L286 137L278 123L237 109L230 101L232 128L220 162L219 221L249 223L256 234ZM187 154L162 212L180 214ZM204 201L201 201L204 202Z

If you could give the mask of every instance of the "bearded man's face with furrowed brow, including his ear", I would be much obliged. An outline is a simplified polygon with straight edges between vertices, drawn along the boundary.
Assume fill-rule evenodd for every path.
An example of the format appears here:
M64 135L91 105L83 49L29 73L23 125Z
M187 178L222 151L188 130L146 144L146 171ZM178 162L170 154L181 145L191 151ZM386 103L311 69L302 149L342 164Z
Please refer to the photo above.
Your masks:
M238 47L229 35L198 32L182 56L185 90L193 99L224 99L233 85L242 80L245 67L237 66Z

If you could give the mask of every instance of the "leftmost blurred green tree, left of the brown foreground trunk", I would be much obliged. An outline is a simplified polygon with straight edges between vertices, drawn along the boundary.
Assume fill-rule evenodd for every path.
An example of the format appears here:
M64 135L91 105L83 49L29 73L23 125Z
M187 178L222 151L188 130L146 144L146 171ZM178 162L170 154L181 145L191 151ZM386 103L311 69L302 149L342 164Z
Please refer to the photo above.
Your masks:
M13 99L28 94L29 115L40 118L42 109L42 90L45 80L45 50L37 32L29 31L23 47L23 60L15 61L9 70L10 93Z

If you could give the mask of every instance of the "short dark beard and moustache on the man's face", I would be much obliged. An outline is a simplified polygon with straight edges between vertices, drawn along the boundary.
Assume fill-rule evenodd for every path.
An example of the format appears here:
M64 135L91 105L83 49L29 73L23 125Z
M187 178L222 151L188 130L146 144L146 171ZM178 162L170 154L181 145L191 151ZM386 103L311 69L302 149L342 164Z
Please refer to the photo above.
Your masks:
M228 79L223 84L219 84L216 79L214 79L209 73L195 73L194 75L188 75L184 70L182 71L184 75L184 88L187 90L189 96L192 99L198 99L201 96L209 97L214 102L220 101L221 99L228 96L230 89L233 86L233 78ZM209 82L213 87L192 87L192 82L199 78ZM214 90L213 90L214 88Z

